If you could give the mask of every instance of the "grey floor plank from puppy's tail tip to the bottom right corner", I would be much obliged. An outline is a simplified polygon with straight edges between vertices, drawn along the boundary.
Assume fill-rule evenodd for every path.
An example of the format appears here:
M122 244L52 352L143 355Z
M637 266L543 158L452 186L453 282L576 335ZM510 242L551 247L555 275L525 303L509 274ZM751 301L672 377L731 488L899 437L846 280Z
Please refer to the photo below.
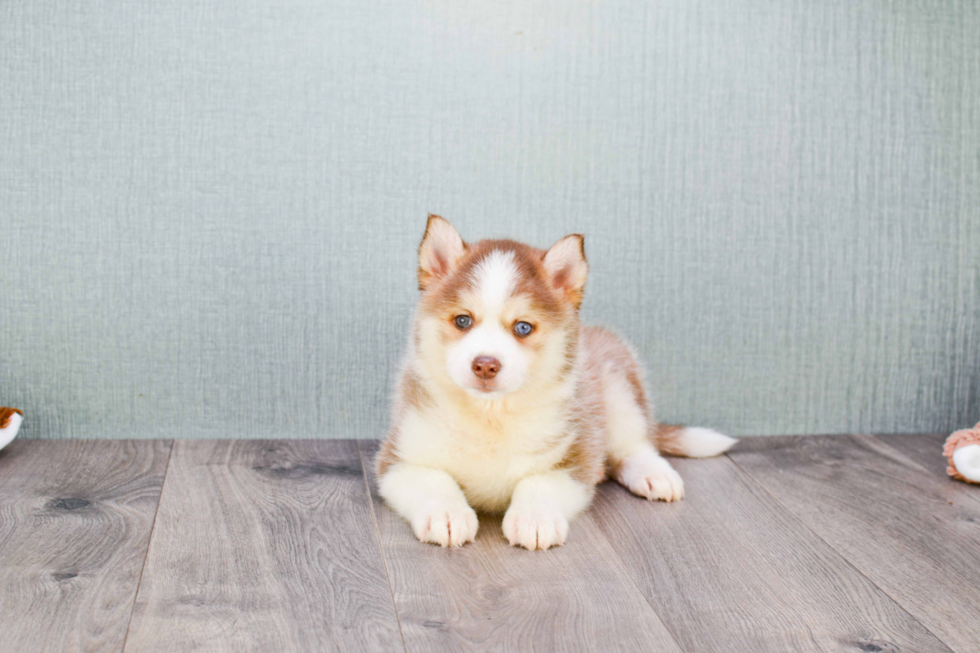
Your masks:
M773 438L731 455L950 648L980 650L980 505L962 486L873 436Z

